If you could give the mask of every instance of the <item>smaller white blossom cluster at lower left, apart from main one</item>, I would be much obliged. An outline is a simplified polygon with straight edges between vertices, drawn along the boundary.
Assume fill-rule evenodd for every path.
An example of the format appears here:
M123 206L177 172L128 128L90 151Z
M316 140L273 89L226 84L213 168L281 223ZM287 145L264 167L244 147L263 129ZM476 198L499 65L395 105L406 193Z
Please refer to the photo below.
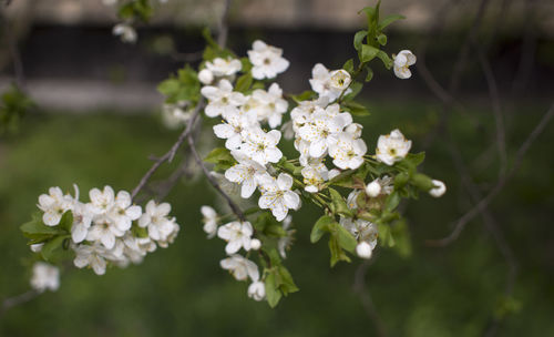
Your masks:
M50 187L48 194L39 196L38 207L42 216L32 231L22 229L31 237L42 233L51 233L54 237L32 244L33 252L44 253L44 247L50 252L57 236L68 236L64 245L74 252L73 264L79 268L91 267L95 274L103 275L107 264L125 267L130 263L141 263L147 253L173 243L179 231L175 218L170 217L171 205L167 203L150 201L143 212L141 206L133 205L129 192L115 194L111 186L92 188L90 202L83 203L79 201L78 186L74 188L74 196L64 194L60 187ZM42 256L52 259L50 255ZM42 265L37 268L44 269ZM34 274L39 275L35 279L41 279L48 277L40 275L49 273L35 270ZM34 283L41 284L39 280ZM53 287L48 284L38 287Z

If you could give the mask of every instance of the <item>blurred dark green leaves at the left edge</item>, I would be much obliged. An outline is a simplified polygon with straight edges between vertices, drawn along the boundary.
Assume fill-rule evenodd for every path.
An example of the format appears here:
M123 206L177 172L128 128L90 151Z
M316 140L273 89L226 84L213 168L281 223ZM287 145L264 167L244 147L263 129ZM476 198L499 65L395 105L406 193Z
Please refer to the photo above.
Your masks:
M0 135L17 132L20 120L33 106L33 101L23 91L11 85L0 101Z

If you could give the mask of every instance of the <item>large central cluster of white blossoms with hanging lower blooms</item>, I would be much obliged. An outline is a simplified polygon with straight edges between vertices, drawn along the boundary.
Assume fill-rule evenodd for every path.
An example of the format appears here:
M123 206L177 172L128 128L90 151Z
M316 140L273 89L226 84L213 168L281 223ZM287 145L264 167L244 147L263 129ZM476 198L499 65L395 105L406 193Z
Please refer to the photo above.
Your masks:
M399 172L397 163L406 165L403 162L408 159L411 141L406 140L399 130L393 130L379 136L375 154L368 154L368 146L362 140L363 126L355 123L352 114L343 108L353 92L352 70L329 70L317 63L309 80L312 94L307 99L295 99L296 105L289 109L289 101L279 84L274 82L289 65L283 50L257 40L247 54L247 59L238 59L232 53L206 59L197 78L203 85L201 94L207 100L205 115L217 119L213 126L214 134L225 141L225 151L216 151L225 163L216 170L224 171L224 174L213 172L213 175L226 191L233 188L225 186L238 187L237 194L242 198L249 200L256 195L257 212L268 210L280 223L277 231L278 257L268 258L274 248L265 246L267 236L259 236L250 222L237 218L218 226L218 222L227 216L219 217L209 206L203 206L201 212L208 238L217 235L227 243L227 257L220 262L222 268L229 270L237 280L252 282L249 297L267 299L275 305L275 289L285 295L296 290L291 279L284 287L275 285L275 280L269 278L275 273L283 273L279 274L281 278L289 277L288 272L281 269L280 258L286 257L285 251L293 242L294 231L288 229L289 211L300 208L300 196L321 206L326 214L338 216L337 225L342 228L334 227L334 216L325 215L325 221L319 226L315 225L314 242L321 236L318 231L328 232L338 245L338 248L332 248L335 253L331 252L338 259L349 261L340 253L342 248L352 248L359 257L370 258L378 244L378 223L383 223L379 218L383 216L382 210L388 207L392 211L398 205L389 200L392 194L396 198L401 193L394 190L394 186L401 187L396 183L397 175L408 174ZM416 62L416 57L403 50L392 59L394 74L400 79L410 78L409 67ZM245 85L245 82L248 84ZM188 102L184 105L187 106ZM284 156L281 134L286 140L294 139L297 159L287 160ZM227 156L224 153L228 153ZM328 166L329 163L332 165ZM369 166L379 166L379 171L390 174L371 174L372 178L366 183L363 180ZM361 182L353 178L358 171L365 172ZM334 184L345 186L339 181L346 174L352 191L348 197L342 197L329 187ZM440 196L445 191L440 181L422 175L419 180L421 190L432 196ZM432 185L429 185L431 182ZM341 203L345 204L342 208ZM393 217L390 214L386 216ZM347 238L339 238L342 234L337 233L345 233L341 231L348 233ZM245 256L239 254L242 249ZM253 252L260 256L264 273L249 259ZM331 264L335 263L331 259ZM274 297L273 300L270 297Z

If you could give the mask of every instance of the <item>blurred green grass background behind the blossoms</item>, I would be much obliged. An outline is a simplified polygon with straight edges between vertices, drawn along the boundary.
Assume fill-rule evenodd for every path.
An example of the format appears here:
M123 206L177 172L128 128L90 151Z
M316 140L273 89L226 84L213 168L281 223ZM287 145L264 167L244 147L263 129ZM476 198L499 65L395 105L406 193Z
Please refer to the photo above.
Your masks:
M365 140L373 147L379 133L399 126L418 151L435 125L440 105L406 101L368 102L372 115L361 121ZM471 109L483 110L475 105ZM534 126L545 105L517 106L517 125L509 144L515 147ZM486 113L484 110L483 113ZM536 112L536 113L535 113ZM152 116L122 116L109 111L76 116L40 114L24 120L24 127L2 142L0 161L0 296L29 288L29 256L18 226L35 210L38 195L49 186L82 194L111 184L131 190L150 166L148 154L166 151L177 136ZM492 122L485 123L492 130ZM208 131L208 130L207 130ZM449 132L471 157L483 139L458 114ZM546 132L530 150L522 168L494 201L491 211L503 228L520 264L512 300L519 310L505 317L503 336L554 334L552 306L554 195L551 144ZM513 151L511 151L513 153ZM478 336L491 315L501 310L507 265L490 234L476 219L447 248L424 245L428 238L449 233L460 207L466 207L460 177L447 149L435 142L428 150L425 172L448 184L440 200L423 195L409 203L406 216L413 254L402 258L379 249L367 275L367 288L392 336ZM160 177L170 173L168 167ZM495 167L481 173L483 182ZM478 182L479 183L479 182ZM246 296L218 266L224 243L208 241L202 231L199 206L213 204L205 180L183 181L168 195L183 231L166 249L148 255L142 265L112 268L105 276L90 269L69 269L57 293L12 308L2 318L1 336L372 336L373 324L352 292L359 259L330 269L327 245L309 243L317 214L305 205L294 214L297 239L286 265L300 292L276 309Z

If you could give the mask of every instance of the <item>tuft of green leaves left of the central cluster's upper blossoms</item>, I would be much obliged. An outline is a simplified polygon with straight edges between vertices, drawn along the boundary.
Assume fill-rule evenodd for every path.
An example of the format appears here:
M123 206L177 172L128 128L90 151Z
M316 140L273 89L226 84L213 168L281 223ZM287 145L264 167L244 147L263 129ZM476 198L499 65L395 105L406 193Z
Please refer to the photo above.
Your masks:
M188 64L177 71L177 75L157 85L157 91L165 95L165 102L175 104L183 101L196 104L201 98L201 82L198 74Z

